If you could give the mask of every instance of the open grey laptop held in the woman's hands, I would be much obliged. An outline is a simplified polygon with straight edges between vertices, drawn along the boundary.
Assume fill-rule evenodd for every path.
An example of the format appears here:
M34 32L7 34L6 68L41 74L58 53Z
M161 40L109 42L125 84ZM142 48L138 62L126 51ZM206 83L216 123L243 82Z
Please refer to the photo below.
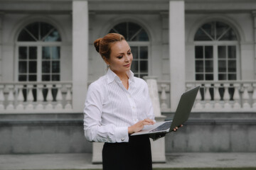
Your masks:
M144 128L141 131L133 133L132 136L154 133L168 133L174 130L175 127L183 125L183 123L188 120L199 88L200 86L196 86L181 95L181 99L178 102L178 107L174 114L173 120L154 123L154 125L144 125Z

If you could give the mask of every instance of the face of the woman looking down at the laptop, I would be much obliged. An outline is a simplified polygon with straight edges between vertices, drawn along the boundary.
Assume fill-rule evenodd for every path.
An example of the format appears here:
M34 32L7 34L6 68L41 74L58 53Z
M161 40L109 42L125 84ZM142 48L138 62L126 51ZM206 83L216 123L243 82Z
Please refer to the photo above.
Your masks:
M114 42L111 47L110 59L105 62L110 65L110 69L118 74L131 69L132 52L126 40Z

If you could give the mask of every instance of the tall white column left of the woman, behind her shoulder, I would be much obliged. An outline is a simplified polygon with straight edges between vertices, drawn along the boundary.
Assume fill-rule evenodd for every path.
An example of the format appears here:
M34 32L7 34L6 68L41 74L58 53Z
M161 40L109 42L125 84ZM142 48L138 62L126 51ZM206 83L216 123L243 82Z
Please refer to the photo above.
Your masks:
M88 1L73 1L73 111L82 112L88 77Z

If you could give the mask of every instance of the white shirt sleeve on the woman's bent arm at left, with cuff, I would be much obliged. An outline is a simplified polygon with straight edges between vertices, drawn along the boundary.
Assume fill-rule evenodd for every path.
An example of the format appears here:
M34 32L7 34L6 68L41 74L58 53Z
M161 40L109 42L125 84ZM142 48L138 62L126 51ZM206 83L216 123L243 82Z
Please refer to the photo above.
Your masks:
M102 106L104 93L102 87L92 83L87 90L84 108L85 137L91 142L128 142L128 127L102 125Z

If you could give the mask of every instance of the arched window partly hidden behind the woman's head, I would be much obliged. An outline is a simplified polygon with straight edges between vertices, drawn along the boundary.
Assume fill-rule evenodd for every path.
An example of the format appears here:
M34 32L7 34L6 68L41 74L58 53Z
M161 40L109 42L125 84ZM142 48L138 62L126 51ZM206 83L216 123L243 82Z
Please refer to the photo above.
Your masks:
M137 23L124 22L111 28L109 33L119 33L129 43L132 55L132 72L136 77L149 75L149 36Z

